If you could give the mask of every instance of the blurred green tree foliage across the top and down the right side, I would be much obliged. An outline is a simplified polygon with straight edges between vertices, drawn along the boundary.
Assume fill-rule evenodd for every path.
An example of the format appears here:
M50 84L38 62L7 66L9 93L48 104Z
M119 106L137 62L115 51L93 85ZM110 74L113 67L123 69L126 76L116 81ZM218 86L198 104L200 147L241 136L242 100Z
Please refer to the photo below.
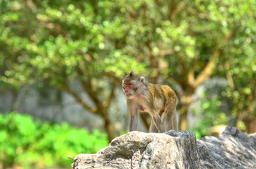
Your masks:
M203 70L216 57L213 75L228 72L235 84L222 92L233 100L233 114L253 120L255 6L255 0L0 0L0 89L41 82L74 96L69 84L80 82L98 106L89 111L107 117L110 90L130 70L163 84L175 80L185 94L199 75L209 78Z

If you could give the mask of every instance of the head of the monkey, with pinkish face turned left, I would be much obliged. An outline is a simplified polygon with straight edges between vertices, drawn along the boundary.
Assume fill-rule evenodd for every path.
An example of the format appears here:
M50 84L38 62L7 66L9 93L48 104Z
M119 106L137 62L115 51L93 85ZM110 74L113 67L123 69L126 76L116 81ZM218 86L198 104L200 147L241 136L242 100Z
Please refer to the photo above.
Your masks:
M137 75L132 71L122 80L122 91L126 99L133 99L134 96L144 91L145 85L145 77Z

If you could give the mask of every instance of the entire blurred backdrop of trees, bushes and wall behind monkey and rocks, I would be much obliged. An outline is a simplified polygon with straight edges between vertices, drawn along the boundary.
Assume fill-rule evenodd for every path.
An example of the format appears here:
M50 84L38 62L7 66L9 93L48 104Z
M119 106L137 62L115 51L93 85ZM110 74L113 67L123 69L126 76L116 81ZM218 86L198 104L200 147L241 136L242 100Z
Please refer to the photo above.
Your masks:
M255 11L255 0L0 0L0 168L69 168L127 133L131 70L175 90L179 130L256 132Z

